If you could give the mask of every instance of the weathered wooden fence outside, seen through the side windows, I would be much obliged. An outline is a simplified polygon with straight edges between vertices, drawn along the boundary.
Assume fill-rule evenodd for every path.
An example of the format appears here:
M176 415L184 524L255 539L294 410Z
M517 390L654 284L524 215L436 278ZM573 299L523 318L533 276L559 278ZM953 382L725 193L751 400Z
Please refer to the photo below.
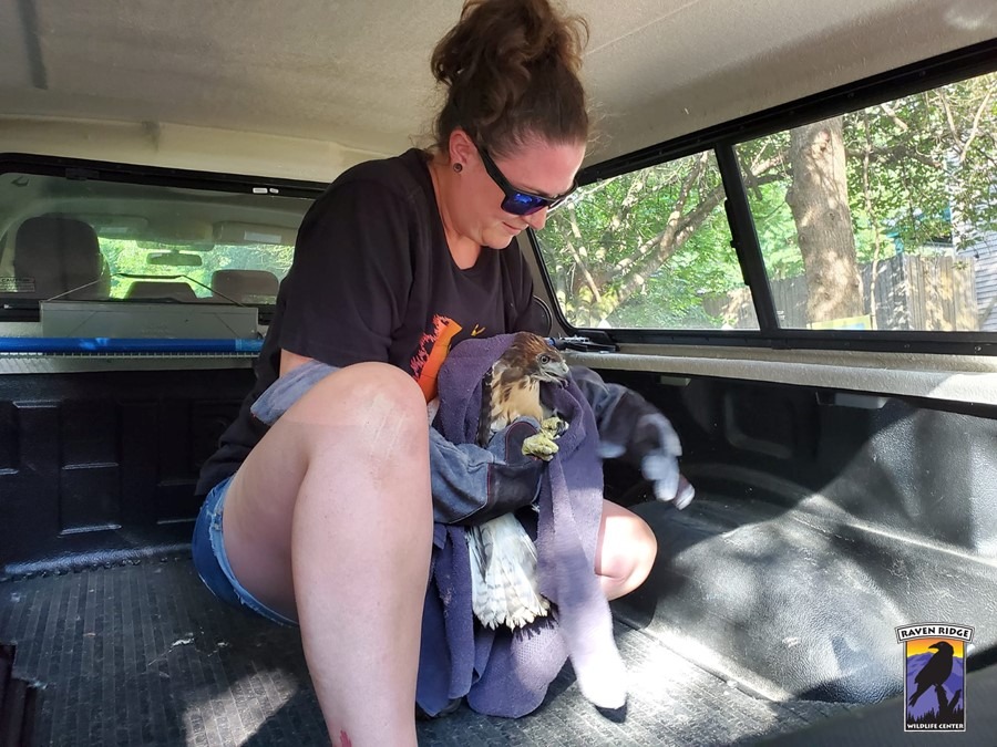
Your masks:
M876 330L978 330L975 262L972 257L896 255L877 263L875 286L872 283L872 264L861 266L865 323ZM782 326L806 329L811 325L806 318L805 277L773 281L772 295ZM707 298L703 308L734 329L758 329L747 289L726 297ZM854 323L854 320L842 321ZM833 329L834 325L821 326Z

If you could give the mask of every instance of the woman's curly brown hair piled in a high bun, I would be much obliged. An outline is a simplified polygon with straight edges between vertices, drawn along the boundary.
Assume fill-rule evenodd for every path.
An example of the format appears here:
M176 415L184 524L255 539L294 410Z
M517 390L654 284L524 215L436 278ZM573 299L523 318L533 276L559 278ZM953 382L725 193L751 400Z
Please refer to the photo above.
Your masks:
M462 127L493 155L534 137L585 143L588 112L578 80L588 23L548 0L467 0L461 20L433 50L433 76L446 86L436 147Z

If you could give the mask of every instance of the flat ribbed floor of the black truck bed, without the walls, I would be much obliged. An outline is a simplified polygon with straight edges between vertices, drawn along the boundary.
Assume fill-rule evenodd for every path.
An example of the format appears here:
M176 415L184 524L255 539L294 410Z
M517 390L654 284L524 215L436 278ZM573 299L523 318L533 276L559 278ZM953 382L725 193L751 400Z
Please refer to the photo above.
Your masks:
M188 558L11 579L0 594L0 639L42 687L33 744L325 744L297 632L216 601ZM754 697L624 623L617 641L624 723L585 702L566 666L535 714L464 706L420 723L420 744L750 744L847 707Z

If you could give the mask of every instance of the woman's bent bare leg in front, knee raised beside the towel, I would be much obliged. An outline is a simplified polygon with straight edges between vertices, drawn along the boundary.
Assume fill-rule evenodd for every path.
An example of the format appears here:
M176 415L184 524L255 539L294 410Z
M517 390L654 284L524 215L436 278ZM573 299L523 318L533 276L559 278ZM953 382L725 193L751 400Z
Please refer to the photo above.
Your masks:
M415 745L432 547L415 383L364 363L316 384L243 464L223 520L239 582L300 622L333 744Z

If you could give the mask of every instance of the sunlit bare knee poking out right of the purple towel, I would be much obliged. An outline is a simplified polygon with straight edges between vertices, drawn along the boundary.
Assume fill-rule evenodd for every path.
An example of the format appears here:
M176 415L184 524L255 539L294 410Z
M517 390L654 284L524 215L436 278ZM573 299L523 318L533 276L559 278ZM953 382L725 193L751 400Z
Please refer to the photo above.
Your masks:
M618 599L644 583L657 554L658 541L647 522L604 500L595 571L606 599Z

